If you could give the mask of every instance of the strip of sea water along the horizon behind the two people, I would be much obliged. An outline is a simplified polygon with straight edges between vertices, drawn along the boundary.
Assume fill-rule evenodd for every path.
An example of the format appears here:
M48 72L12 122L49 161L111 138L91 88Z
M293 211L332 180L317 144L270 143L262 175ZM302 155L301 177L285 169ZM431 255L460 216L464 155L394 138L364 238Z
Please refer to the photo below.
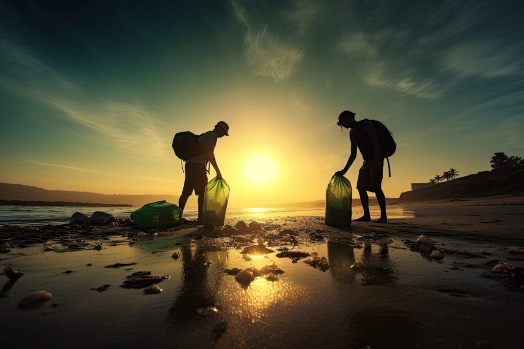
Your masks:
M31 225L67 223L74 212L91 216L95 211L111 213L117 218L128 218L139 207L75 207L75 206L0 206L0 225ZM370 207L372 217L379 216L378 207ZM353 217L362 215L361 207L353 207ZM196 219L196 208L186 208L184 218ZM324 208L230 208L226 218L268 216L324 216ZM389 218L413 218L414 212L402 207L388 208Z

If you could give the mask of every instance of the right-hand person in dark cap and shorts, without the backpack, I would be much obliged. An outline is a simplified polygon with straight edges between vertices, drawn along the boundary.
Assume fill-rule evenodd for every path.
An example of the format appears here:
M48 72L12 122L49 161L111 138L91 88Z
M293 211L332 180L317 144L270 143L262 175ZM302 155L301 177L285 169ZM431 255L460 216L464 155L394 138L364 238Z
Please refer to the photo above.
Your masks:
M345 110L339 115L339 126L351 128L351 154L347 159L346 166L337 175L344 175L351 167L357 156L357 148L364 158L364 164L358 172L357 189L360 195L364 216L355 221L370 221L369 198L367 192L375 193L380 206L380 218L376 222L384 223L387 221L386 197L382 191L382 170L384 167L384 157L380 154L380 143L377 131L373 126L372 120L355 120L355 113Z

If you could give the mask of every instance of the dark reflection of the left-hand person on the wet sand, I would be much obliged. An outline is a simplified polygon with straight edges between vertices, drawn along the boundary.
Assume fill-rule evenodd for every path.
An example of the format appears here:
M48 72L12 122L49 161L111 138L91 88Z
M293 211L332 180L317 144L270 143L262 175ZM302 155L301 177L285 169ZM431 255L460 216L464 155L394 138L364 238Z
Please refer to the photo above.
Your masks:
M217 317L205 317L198 310L215 305L222 271L219 260L227 259L227 252L200 243L187 243L181 246L182 275L177 298L169 309L166 324L178 333L199 329L203 326L220 326ZM224 256L220 256L224 254ZM207 262L213 264L208 265Z

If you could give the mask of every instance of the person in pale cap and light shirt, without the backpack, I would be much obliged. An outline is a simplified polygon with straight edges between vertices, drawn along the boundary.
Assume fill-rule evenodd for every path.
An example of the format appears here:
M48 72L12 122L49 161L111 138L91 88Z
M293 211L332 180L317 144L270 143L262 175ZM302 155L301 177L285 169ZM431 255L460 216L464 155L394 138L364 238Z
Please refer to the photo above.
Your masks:
M216 172L216 177L222 178L219 170L219 165L216 164L215 159L215 145L216 140L224 136L229 136L227 133L229 126L224 121L219 121L213 131L208 131L201 134L198 138L200 143L201 153L197 156L191 157L185 162L185 180L182 189L182 195L178 200L178 206L183 211L185 203L189 196L195 191L198 196L198 222L202 221L202 210L204 209L204 190L208 184L208 176L206 175L206 165L211 163Z

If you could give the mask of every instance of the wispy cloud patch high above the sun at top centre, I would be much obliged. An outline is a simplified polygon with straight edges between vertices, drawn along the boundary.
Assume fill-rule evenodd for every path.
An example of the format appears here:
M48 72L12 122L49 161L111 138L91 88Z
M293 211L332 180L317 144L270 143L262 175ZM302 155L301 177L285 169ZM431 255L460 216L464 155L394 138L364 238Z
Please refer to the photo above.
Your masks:
M255 75L269 76L275 82L288 80L302 60L303 50L283 42L269 31L267 25L256 26L241 4L237 1L232 4L237 19L247 28L244 38L246 58Z

